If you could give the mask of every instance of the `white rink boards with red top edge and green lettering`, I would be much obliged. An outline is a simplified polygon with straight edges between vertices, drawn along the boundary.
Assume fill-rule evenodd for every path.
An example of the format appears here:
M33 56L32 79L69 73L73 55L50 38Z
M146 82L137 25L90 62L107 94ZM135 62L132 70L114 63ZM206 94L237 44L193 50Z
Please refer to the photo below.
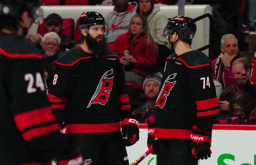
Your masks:
M126 147L130 165L147 150L148 126L140 124L140 140ZM212 156L198 165L256 165L256 125L214 124ZM139 165L156 165L156 155L149 154Z

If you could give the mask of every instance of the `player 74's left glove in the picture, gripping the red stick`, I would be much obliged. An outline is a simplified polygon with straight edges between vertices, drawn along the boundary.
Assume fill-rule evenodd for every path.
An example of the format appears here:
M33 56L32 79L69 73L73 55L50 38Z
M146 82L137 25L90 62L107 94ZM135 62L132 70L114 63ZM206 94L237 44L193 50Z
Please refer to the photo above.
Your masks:
M155 123L148 123L148 149L152 147L153 152L151 154L156 154L158 148L158 138L154 137Z

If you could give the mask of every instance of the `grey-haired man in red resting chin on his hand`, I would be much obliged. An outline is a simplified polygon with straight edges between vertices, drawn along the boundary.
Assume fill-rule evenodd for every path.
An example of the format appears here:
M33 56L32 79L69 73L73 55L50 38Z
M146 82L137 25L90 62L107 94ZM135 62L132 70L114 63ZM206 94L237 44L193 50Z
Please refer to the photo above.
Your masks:
M220 81L225 89L236 83L231 64L235 59L242 57L234 34L225 34L221 37L220 50L220 55L212 61L212 78Z

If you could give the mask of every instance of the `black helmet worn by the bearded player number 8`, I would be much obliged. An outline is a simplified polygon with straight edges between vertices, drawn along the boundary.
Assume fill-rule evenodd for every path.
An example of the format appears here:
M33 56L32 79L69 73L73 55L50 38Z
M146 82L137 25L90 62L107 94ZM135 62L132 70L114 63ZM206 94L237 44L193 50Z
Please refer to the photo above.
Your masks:
M105 22L104 17L97 11L88 11L81 14L78 19L78 26L80 31L85 30L86 33L89 33L89 28L92 25L104 25L104 32L108 32L108 26Z

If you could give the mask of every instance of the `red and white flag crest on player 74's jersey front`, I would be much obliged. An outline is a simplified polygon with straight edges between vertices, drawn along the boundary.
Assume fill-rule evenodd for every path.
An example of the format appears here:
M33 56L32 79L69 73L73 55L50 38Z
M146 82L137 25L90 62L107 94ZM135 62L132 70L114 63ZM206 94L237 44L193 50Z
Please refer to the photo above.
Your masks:
M163 109L165 102L167 100L167 96L170 94L170 90L176 83L176 81L172 81L177 73L173 73L172 75L168 76L167 79L164 81L164 85L162 86L161 91L156 99L156 106Z

